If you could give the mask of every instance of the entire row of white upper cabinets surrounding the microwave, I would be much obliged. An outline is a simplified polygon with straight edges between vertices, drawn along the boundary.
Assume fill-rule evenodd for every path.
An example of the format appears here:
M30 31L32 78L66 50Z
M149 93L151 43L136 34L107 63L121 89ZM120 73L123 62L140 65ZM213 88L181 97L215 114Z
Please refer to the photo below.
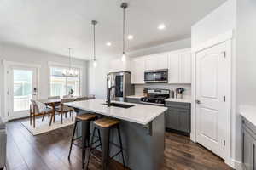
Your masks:
M168 69L168 83L182 84L191 83L191 52L190 48L168 52L164 54L153 54L131 59L131 83L143 84L144 71ZM129 71L129 66L116 62L114 68Z

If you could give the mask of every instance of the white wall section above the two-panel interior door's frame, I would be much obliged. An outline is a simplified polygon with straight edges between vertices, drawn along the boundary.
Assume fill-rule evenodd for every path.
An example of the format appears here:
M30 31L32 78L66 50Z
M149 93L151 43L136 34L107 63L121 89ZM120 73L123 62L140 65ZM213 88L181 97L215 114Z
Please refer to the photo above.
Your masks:
M196 48L207 40L236 28L236 0L228 0L191 28L191 46Z

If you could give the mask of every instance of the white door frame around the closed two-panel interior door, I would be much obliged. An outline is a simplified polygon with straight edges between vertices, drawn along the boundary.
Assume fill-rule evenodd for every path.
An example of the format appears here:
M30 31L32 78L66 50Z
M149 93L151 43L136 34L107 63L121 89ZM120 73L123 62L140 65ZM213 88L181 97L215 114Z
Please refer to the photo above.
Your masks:
M231 121L233 121L233 117L231 114L231 106L234 103L234 87L232 87L232 82L233 80L233 54L234 51L232 49L233 43L234 43L234 38L233 38L233 30L227 31L224 34L218 35L217 37L214 37L207 42L201 43L201 45L192 48L192 83L191 83L191 91L192 91L192 102L191 102L191 133L190 133L190 139L193 142L197 142L196 139L196 104L195 104L195 99L196 99L196 54L201 52L202 50L205 50L207 48L212 48L213 46L216 46L218 44L224 43L226 44L226 59L228 62L228 87L229 90L226 94L226 103L228 105L227 108L227 113L228 113L228 119L227 119L227 125L226 125L226 150L225 150L225 158L224 161L226 164L228 164L230 167L233 167L232 163L232 158L231 158Z

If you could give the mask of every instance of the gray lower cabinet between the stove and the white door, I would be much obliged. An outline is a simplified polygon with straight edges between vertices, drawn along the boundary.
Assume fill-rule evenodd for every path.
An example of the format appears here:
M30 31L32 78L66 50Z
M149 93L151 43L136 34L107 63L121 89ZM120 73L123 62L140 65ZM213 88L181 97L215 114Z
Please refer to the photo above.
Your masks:
M189 103L166 102L166 128L190 133L191 109Z

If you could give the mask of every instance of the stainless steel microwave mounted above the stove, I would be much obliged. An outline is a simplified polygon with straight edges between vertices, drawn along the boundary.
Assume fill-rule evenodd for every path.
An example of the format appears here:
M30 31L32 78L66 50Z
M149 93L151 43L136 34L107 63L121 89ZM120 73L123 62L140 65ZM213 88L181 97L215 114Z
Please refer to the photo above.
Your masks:
M144 82L146 83L168 82L168 69L144 71Z

